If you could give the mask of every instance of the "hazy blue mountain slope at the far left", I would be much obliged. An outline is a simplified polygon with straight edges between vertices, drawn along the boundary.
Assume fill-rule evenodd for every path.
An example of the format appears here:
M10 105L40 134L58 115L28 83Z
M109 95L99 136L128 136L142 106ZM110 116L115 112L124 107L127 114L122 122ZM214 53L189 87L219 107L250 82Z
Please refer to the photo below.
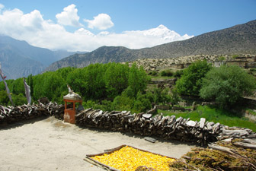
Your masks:
M73 54L75 52L51 51L30 46L27 42L14 40L10 36L0 36L0 62L7 79L39 74L51 63Z

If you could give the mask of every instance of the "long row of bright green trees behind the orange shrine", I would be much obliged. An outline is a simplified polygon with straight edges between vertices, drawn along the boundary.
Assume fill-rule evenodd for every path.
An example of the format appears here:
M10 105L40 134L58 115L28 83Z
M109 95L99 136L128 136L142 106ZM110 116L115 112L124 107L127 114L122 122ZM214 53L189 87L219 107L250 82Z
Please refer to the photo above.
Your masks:
M146 89L149 80L143 68L132 68L120 63L92 64L85 68L60 68L57 71L47 71L43 74L27 77L30 85L31 97L37 102L40 97L48 97L51 101L63 103L63 96L68 93L67 84L82 96L83 100L114 100L123 90L127 90L129 97L136 97L140 91ZM8 87L15 96L25 95L22 78L8 80ZM127 89L129 87L129 89ZM0 82L0 90L5 90L5 85ZM18 97L17 97L18 98ZM19 98L18 98L19 99ZM21 98L20 98L21 99ZM0 99L5 104L5 98ZM16 105L21 104L18 100Z

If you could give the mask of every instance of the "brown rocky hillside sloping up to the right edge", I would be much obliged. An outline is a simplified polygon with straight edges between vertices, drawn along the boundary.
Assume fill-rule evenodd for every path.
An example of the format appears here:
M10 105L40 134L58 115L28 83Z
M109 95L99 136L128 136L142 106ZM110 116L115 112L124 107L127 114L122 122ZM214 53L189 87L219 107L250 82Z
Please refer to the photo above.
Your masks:
M130 62L136 59L165 59L200 54L256 54L256 20L152 48L103 46L93 52L71 55L54 62L46 71L55 71L67 66L85 67L96 62Z

